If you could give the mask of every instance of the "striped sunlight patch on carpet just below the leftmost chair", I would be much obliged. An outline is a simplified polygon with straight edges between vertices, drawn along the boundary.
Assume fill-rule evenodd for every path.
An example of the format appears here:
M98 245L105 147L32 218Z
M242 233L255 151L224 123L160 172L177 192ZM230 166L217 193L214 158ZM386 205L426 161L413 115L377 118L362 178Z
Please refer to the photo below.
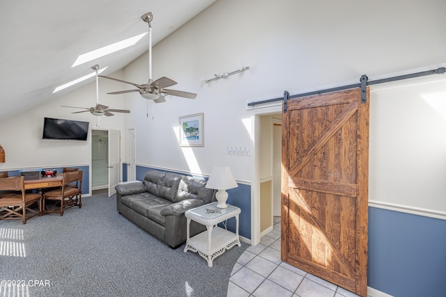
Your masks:
M26 257L23 240L23 230L0 228L0 256Z

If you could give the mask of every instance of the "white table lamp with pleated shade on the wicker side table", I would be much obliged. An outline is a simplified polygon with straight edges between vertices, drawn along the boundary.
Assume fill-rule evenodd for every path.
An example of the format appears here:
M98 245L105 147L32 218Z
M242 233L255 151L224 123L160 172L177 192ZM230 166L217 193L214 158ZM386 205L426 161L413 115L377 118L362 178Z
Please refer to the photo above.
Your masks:
M206 184L206 188L218 190L217 193L215 193L215 198L217 198L218 201L218 208L228 207L226 205L226 200L228 199L228 192L226 192L226 190L236 187L238 187L238 184L236 179L232 176L229 166L214 167Z

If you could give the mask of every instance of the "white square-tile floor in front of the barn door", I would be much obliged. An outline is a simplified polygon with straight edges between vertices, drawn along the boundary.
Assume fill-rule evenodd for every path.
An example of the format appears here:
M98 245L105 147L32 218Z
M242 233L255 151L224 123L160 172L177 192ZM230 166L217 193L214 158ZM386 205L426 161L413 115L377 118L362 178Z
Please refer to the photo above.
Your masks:
M280 218L257 246L238 258L231 272L228 297L358 297L280 260Z

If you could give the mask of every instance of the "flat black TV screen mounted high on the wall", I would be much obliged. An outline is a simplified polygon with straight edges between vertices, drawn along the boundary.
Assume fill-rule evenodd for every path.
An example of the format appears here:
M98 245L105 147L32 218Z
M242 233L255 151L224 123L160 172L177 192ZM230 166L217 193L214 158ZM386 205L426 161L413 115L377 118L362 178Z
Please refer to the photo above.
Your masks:
M45 118L43 121L43 139L62 139L86 141L89 122Z

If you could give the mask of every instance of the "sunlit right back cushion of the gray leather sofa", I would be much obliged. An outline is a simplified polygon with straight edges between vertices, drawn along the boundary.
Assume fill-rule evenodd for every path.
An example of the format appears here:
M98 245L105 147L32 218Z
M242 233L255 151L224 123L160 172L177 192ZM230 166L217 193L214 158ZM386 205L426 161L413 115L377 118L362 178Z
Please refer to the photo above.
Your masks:
M201 199L205 204L213 198L214 190L206 188L206 180L195 177L184 176L178 186L174 202L180 202L185 199Z

